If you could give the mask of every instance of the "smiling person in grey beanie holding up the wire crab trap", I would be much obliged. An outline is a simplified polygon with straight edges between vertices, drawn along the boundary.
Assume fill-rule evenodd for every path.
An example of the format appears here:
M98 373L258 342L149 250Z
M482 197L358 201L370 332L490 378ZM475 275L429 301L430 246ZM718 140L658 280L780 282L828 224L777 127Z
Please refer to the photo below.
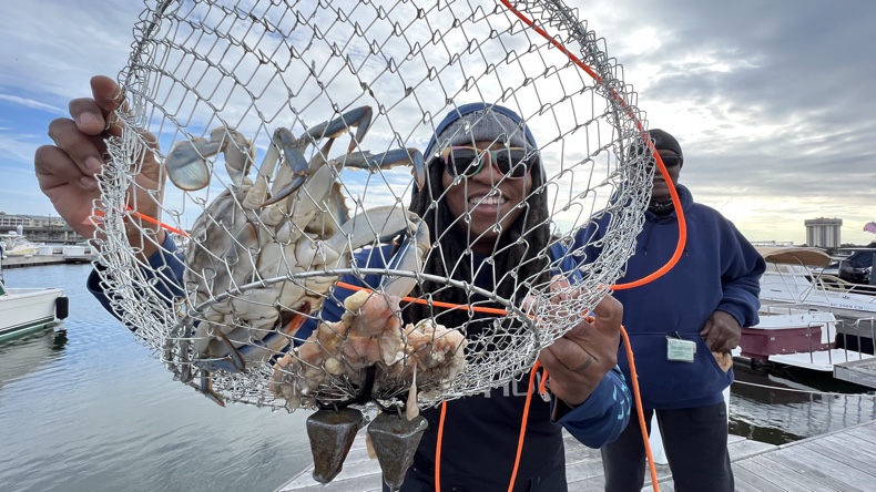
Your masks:
M110 116L123 104L119 86L108 78L92 79L92 92L90 99L71 101L72 119L51 123L49 135L54 145L40 147L34 156L43 193L52 199L59 214L85 237L94 234L89 217L93 201L100 196L93 176L101 171L104 158L103 139L120 133L119 124ZM479 287L522 301L527 293L518 284L506 281L505 276L499 276L498 285L493 285L490 275L476 275L478 278L472 279L468 273L486 273L487 269L477 265L490 262L495 263L491 268L495 273L523 265L522 274L532 277L533 284L548 285L551 269L553 274L574 270L562 247L550 243L548 205L541 187L544 170L534 153L538 146L532 134L516 113L500 106L465 105L448 114L436 133L425 154L428 156L427 185L414 194L410 206L430 226L432 237L438 238L439 252L429 256L426 273L471 280ZM434 156L435 153L440 156ZM153 154L146 152L140 157L142 170L136 193L161 189L159 165ZM154 216L157 212L139 209L144 216ZM154 234L141 234L141 230L154 230ZM169 297L179 296L184 265L173 253L175 247L169 235L154 227L130 227L129 232L130 244L140 245L141 259L155 269L147 273L154 288ZM549 255L542 255L544 250ZM358 258L359 266L366 266L378 256ZM465 267L448 269L447 258L454 262L461 258ZM365 283L353 277L344 280L376 285L376 280L368 277ZM435 293L429 293L432 287ZM89 278L89 288L109 308L95 275ZM345 293L337 288L335 297L343 300L349 294L350 290ZM471 301L459 289L439 288L428 281L414 293L417 296L427 294L431 294L434 300ZM432 309L409 305L405 316L411 320L437 316L451 326L468 324L468 335L476 335L492 321L480 315L469 317L464 310L438 312ZM527 385L511 381L485 394L446 402L442 426L438 408L425 410L428 431L420 441L403 490L438 486L441 490L507 490L509 481L513 490L567 490L561 429L566 428L584 444L599 448L615 439L629 420L630 393L615 366L622 310L613 298L603 298L593 308L594 319L581 316L573 329L541 351L539 360L550 375L548 401L532 398L527 408ZM323 311L322 317L328 320L338 317L342 309L338 304L327 301ZM306 337L307 328L302 328L296 338ZM528 416L524 445L521 455L516 457L524 416ZM439 432L442 449L436 460ZM440 474L436 473L438 465Z

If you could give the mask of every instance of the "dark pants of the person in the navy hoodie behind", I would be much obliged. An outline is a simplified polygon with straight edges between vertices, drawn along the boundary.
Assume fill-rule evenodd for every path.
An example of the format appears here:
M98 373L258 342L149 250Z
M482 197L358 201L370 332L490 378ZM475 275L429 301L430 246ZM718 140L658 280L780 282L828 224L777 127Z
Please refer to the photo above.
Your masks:
M651 416L645 424L651 433ZM727 409L711 407L658 410L674 489L678 492L733 492L733 470L727 453ZM645 449L635 409L630 424L614 442L602 447L607 492L640 492L645 478Z

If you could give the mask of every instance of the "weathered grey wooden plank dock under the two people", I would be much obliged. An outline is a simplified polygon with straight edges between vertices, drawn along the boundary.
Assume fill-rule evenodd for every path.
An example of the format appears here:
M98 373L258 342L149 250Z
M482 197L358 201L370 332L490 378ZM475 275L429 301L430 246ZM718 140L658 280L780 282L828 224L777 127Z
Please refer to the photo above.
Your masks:
M365 450L364 432L356 438L344 470L329 484L304 470L277 492L375 492L381 490L380 470ZM876 421L809 439L773 445L730 435L736 491L876 491ZM604 479L599 450L566 437L566 474L570 491L602 491ZM643 491L653 491L645 478ZM674 491L666 465L658 465L661 491Z

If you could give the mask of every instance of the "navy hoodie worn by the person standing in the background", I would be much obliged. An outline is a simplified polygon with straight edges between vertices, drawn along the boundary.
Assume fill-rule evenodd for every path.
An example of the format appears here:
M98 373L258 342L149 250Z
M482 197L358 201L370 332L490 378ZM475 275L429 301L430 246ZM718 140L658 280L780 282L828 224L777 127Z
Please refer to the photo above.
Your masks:
M733 382L733 369L724 372L719 367L700 331L715 310L731 314L742 327L758 322L763 257L717 211L694 203L684 186L678 186L678 192L687 224L681 259L656 280L614 293L623 304L623 326L646 409L696 408L723 401L722 391ZM592 244L603 237L610 219L605 214L578 233L574 253L580 262L590 263L599 256L600 248ZM638 280L665 265L678 240L675 212L665 216L646 212L635 254L618 283ZM694 362L668 360L668 337L694 341ZM618 361L629 381L630 362L623 348Z

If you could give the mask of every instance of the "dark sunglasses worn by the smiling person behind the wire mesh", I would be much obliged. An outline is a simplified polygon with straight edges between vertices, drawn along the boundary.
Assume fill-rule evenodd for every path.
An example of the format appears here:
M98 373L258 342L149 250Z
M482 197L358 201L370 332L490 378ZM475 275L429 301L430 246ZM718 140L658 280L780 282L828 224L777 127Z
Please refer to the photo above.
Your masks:
M470 146L447 147L441 152L447 174L471 177L483 170L485 162L495 164L507 180L527 176L539 161L538 152L521 147L505 147L496 151Z

